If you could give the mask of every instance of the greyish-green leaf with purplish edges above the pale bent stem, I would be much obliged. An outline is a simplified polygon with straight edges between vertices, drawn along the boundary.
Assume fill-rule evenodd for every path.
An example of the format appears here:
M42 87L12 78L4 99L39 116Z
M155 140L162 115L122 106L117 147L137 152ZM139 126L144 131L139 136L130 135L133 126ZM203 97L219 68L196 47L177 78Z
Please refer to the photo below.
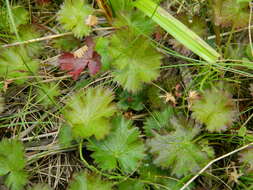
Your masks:
M156 133L155 137L147 142L154 155L154 164L170 168L172 174L178 177L197 172L209 161L206 152L194 142L200 129L176 118L173 118L171 123L175 131L163 135Z

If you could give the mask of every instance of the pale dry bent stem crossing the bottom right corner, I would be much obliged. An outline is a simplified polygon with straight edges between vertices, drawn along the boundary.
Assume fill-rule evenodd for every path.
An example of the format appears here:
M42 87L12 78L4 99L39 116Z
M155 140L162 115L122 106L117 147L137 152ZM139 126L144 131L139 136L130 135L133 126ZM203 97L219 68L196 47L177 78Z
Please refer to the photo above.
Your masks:
M248 148L249 146L253 145L253 142L252 143L249 143L241 148L238 148L236 150L233 150L227 154L224 154L223 156L220 156L212 161L210 161L204 168L202 168L195 176L193 176L183 187L181 187L180 190L184 190L186 189L197 177L199 177L200 174L202 174L207 168L209 168L213 163L223 159L223 158L226 158L234 153L237 153L237 152L240 152L241 150L244 150L246 148Z

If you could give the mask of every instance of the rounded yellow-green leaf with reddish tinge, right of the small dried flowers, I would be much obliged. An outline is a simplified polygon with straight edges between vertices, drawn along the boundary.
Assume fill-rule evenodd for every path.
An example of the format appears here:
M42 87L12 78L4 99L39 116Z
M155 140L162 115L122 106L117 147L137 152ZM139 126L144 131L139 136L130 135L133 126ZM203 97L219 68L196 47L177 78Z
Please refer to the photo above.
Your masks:
M233 124L236 115L231 95L220 87L206 90L193 101L193 116L204 123L210 132L221 132Z

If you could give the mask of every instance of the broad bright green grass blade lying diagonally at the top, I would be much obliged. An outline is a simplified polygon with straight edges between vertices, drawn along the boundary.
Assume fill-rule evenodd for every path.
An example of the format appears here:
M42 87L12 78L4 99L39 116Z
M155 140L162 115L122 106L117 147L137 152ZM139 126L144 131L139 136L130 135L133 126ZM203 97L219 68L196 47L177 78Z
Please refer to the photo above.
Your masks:
M138 0L134 5L151 17L158 25L171 34L176 40L209 63L215 63L220 57L211 46L190 30L187 26L170 15L152 0Z

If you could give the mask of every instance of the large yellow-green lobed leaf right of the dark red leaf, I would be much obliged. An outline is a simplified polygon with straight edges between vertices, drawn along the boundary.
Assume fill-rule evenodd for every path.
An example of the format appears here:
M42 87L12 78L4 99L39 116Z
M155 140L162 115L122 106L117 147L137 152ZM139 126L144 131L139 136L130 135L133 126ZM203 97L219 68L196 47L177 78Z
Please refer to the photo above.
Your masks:
M110 47L114 80L124 89L136 92L159 76L162 56L144 37L121 31L112 36Z

